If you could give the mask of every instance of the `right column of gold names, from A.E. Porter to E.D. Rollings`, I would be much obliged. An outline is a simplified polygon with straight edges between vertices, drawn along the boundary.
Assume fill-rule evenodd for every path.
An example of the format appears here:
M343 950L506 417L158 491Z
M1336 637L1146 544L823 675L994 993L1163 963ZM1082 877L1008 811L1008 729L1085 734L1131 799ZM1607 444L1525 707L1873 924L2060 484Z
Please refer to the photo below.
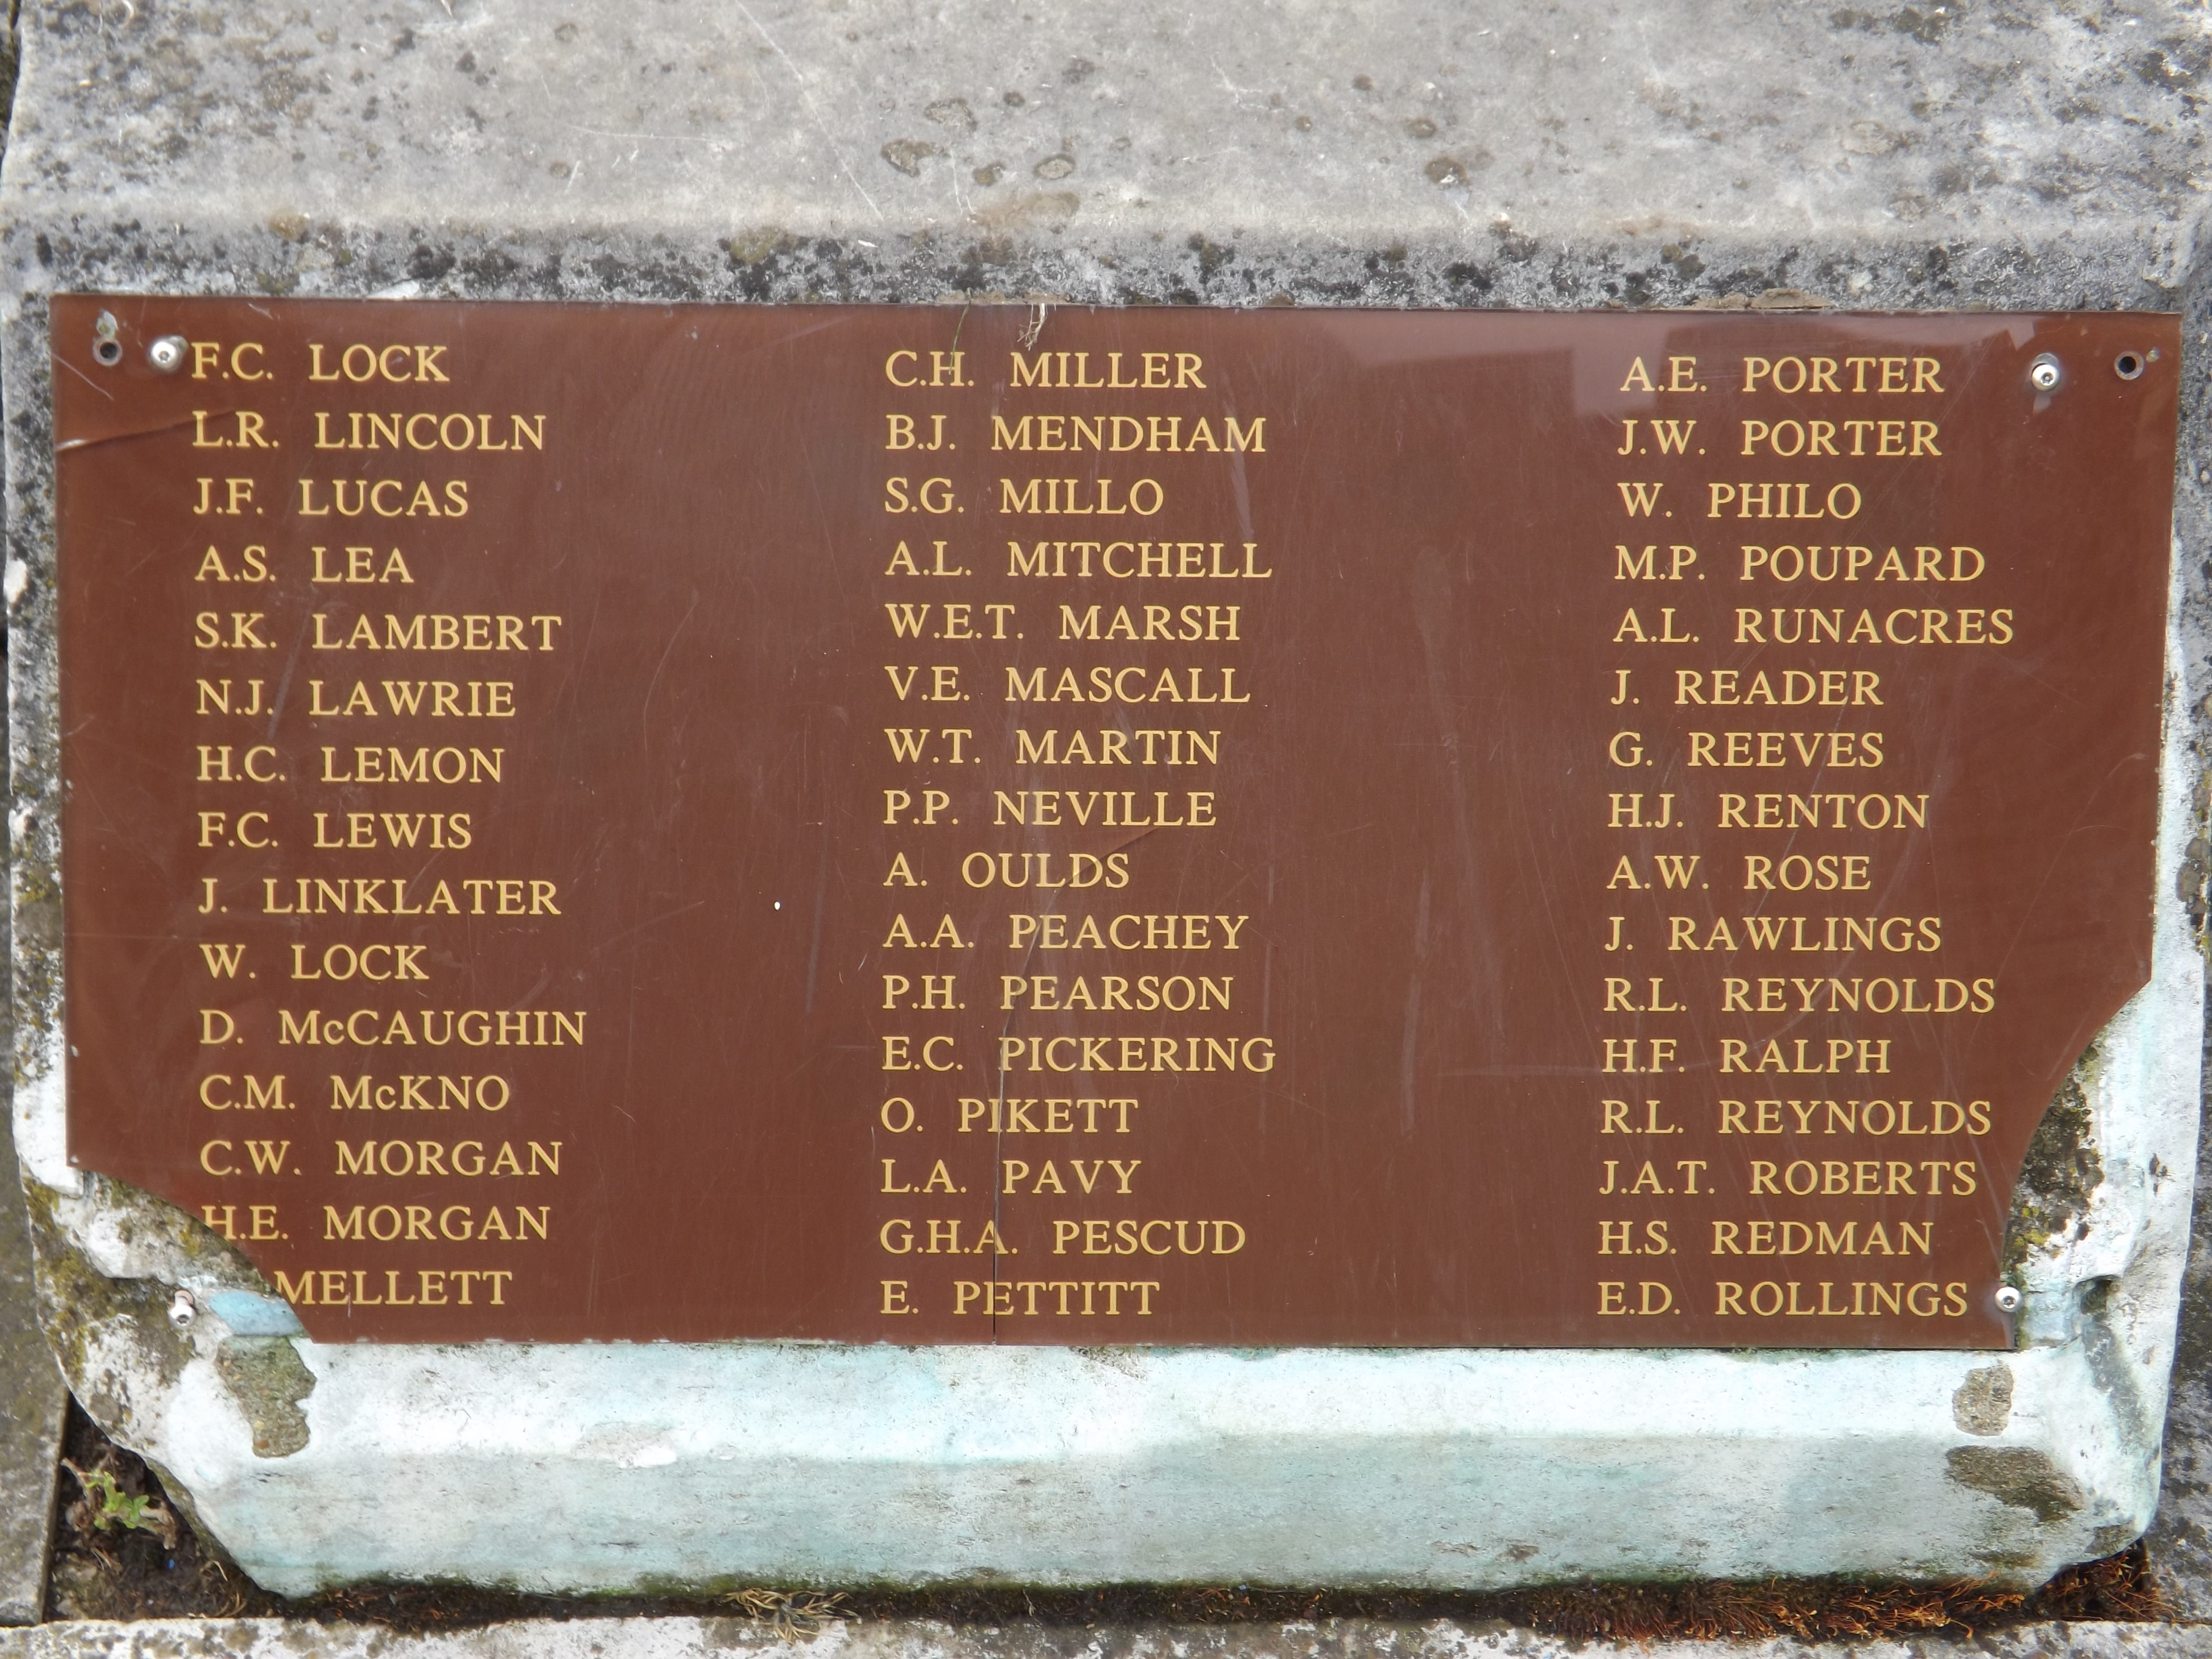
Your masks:
M1648 414L1617 418L1624 533L1599 575L1624 602L1590 803L1610 834L1595 1312L1655 1343L1686 1312L1807 1345L1905 1316L1940 1343L1986 1290L1940 1272L1940 1234L1986 1206L1993 1106L1913 1037L2000 987L1944 936L1942 794L1902 710L1955 650L2015 637L1993 560L1905 522L1944 469L1951 369L1619 369Z

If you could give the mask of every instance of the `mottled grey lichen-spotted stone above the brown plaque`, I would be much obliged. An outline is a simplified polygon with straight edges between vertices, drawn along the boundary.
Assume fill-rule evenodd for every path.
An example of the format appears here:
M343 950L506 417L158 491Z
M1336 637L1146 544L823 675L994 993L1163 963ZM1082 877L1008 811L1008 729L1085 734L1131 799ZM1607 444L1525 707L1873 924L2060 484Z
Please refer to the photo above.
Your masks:
M2170 305L2203 13L1338 0L33 4L82 285ZM18 215L20 217L20 215Z

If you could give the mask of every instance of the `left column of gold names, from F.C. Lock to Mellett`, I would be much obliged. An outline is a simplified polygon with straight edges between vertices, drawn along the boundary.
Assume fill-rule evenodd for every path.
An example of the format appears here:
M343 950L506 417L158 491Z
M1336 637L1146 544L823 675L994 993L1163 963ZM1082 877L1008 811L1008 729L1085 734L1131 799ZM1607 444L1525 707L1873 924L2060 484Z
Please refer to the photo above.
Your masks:
M577 1060L538 1051L588 1011L546 971L562 883L500 834L551 783L515 732L571 648L500 502L557 434L436 338L190 338L179 376L192 670L146 695L192 708L199 1219L296 1307L533 1305L575 1157L544 1082Z

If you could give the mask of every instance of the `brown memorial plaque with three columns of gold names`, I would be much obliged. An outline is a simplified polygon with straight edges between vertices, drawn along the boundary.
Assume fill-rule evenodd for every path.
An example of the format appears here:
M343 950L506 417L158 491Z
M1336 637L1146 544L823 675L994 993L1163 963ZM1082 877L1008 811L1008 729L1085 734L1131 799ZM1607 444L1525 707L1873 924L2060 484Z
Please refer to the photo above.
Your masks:
M314 1336L2006 1345L2172 316L53 338L71 1152Z

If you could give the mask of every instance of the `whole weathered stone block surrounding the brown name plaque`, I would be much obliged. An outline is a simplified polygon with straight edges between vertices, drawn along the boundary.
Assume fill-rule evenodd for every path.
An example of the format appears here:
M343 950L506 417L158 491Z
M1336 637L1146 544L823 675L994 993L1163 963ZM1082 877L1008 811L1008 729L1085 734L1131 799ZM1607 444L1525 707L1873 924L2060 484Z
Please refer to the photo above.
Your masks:
M2203 1040L2199 22L27 9L0 190L13 1126L77 1398L283 1593L2033 1584L2124 1546L2159 1491ZM2020 1349L296 1336L206 1230L64 1152L44 332L64 290L2183 310L2154 973L2031 1155ZM507 1650L438 1641L422 1650ZM1504 1632L1431 1648L1551 1652Z

